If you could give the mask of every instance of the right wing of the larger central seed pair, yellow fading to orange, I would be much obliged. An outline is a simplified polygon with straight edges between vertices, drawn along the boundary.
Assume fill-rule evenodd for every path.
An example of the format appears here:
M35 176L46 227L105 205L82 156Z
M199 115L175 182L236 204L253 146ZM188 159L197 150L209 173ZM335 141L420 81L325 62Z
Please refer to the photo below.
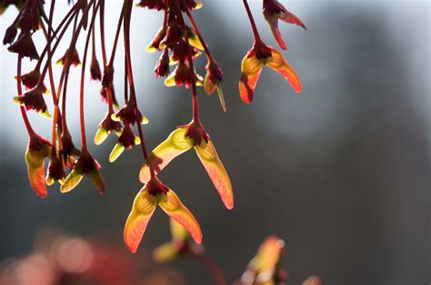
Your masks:
M206 143L203 141L200 146L195 147L197 156L201 160L206 173L214 183L218 194L225 203L227 209L234 208L234 192L227 175L226 168L222 161L218 158L216 148L211 140Z

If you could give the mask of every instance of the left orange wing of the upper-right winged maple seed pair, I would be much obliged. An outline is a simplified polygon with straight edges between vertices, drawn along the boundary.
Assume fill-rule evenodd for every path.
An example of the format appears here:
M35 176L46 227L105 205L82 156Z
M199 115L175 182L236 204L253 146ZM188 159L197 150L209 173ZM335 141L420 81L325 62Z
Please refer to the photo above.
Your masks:
M241 99L248 104L253 101L253 95L263 66L262 61L257 59L256 56L245 56L243 58L238 87Z

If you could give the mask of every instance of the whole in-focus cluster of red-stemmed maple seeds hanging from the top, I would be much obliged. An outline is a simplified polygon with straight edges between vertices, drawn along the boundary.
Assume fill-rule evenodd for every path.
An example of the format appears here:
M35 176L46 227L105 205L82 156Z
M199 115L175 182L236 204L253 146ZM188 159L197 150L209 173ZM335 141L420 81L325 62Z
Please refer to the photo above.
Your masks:
M239 80L239 94L246 103L251 103L254 97L256 84L263 66L269 66L284 76L287 82L296 92L302 90L295 70L289 66L286 59L274 47L266 46L256 28L251 10L246 0L243 0L246 12L252 25L255 43L243 59L241 66L241 77ZM160 51L161 56L155 65L155 76L165 76L167 87L191 87L193 115L192 120L185 126L178 127L151 153L147 153L145 147L144 132L141 124L148 122L137 104L135 95L135 84L130 53L130 22L132 15L132 0L125 0L118 19L115 33L115 42L110 58L105 50L104 13L105 0L78 0L63 18L60 25L54 29L53 16L55 1L52 1L49 15L45 14L44 3L41 0L9 0L5 6L0 7L3 11L7 5L16 5L19 14L14 23L10 25L4 38L4 44L9 45L8 50L18 54L17 60L17 93L15 102L21 107L25 127L29 133L29 144L25 154L28 176L32 188L37 195L46 197L46 184L52 185L55 180L61 184L63 193L71 191L86 175L94 183L101 193L105 193L105 182L99 173L100 165L92 157L86 147L85 120L84 120L84 94L85 94L85 64L88 48L92 46L90 75L94 80L101 81L101 97L106 102L107 112L100 123L96 134L95 144L99 145L111 133L115 133L118 142L110 154L109 160L115 161L121 153L135 145L140 145L144 155L144 165L140 170L139 178L144 187L135 198L132 211L125 223L125 244L131 251L137 249L142 239L146 225L153 215L155 208L159 205L167 215L175 219L188 232L196 243L202 242L202 232L195 217L181 203L175 192L166 187L157 175L174 158L181 155L190 148L195 148L196 154L202 162L206 172L213 181L222 201L227 209L233 209L234 196L230 179L220 158L218 158L214 143L205 132L200 121L198 112L197 87L203 86L205 93L213 94L217 91L220 103L224 111L226 104L223 97L221 83L223 72L216 63L205 40L195 23L192 12L200 8L202 4L195 0L141 0L141 7L155 9L164 14L164 21L156 33L154 40L146 50L148 52ZM91 11L91 12L90 12ZM282 49L286 49L286 43L278 29L278 20L286 23L306 26L276 0L263 0L263 13L276 38L276 42ZM99 15L103 57L103 71L95 55L95 17ZM74 21L75 19L75 21ZM186 20L190 24L186 25ZM65 35L69 26L73 25L73 36L65 56L57 61L63 65L60 81L57 86L53 79L53 68L51 62L55 55L55 49ZM123 26L125 41L125 100L124 106L119 108L115 98L114 87L114 61L115 50L118 43L121 27ZM37 53L32 35L42 27L46 36L46 46L41 54ZM20 35L15 40L17 30ZM82 30L87 30L85 50L81 62L76 49L76 41ZM195 72L194 60L197 56L205 54L207 64L205 66L205 77ZM21 73L21 61L23 57L36 59L35 68L25 75ZM45 65L44 65L45 64ZM81 143L80 150L75 148L72 136L67 128L66 90L67 78L71 66L82 64L80 85L80 123ZM175 68L171 71L171 66ZM50 87L45 87L45 76L48 76ZM22 85L27 89L23 92ZM51 90L55 112L53 117L53 137L51 141L36 134L26 116L27 110L51 117L43 95ZM61 101L61 102L60 102ZM115 112L115 107L119 108ZM137 128L138 136L135 136L134 127ZM45 158L49 159L45 178ZM68 175L65 168L69 168Z

